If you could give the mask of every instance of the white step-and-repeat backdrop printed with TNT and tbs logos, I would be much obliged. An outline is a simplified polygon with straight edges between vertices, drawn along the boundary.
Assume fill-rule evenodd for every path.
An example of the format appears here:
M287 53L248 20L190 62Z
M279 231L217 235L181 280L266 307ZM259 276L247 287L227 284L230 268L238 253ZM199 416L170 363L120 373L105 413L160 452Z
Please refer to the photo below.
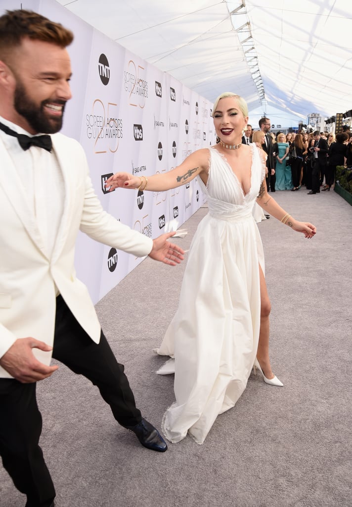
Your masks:
M179 229L204 203L197 178L161 193L122 189L107 193L104 183L117 171L144 176L169 171L194 150L214 144L212 104L54 0L0 0L0 14L21 7L74 33L67 48L73 98L66 106L62 133L82 143L104 209L151 238ZM94 302L140 262L84 234L77 238L77 276L87 284Z

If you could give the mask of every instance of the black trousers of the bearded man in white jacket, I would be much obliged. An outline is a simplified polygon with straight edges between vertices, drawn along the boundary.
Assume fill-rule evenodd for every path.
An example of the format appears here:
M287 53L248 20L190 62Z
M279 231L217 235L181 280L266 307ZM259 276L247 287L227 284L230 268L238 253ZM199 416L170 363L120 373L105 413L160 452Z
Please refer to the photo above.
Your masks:
M141 421L124 367L116 361L105 336L101 333L99 344L94 343L61 296L56 300L53 357L91 380L121 425ZM38 445L42 416L35 387L36 383L0 379L0 455L16 488L27 495L26 507L49 507L55 489Z

